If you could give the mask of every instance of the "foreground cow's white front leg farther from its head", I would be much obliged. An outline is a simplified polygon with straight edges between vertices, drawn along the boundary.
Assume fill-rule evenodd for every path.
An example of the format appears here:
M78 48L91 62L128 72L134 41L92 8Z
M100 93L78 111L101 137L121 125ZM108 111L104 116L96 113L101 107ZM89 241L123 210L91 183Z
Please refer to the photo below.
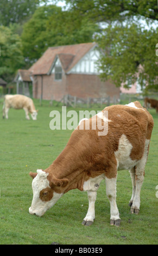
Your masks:
M121 219L116 204L116 178L108 179L105 177L106 195L110 201L110 224L119 226Z

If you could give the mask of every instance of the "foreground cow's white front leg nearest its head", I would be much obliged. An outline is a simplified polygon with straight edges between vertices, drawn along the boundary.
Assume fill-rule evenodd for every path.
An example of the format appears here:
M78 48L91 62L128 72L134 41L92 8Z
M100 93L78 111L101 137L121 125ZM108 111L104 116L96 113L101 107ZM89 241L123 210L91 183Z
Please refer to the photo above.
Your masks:
M89 198L89 209L87 211L86 217L83 220L83 225L90 226L93 224L95 218L95 202L97 198L96 191L87 191L87 195Z

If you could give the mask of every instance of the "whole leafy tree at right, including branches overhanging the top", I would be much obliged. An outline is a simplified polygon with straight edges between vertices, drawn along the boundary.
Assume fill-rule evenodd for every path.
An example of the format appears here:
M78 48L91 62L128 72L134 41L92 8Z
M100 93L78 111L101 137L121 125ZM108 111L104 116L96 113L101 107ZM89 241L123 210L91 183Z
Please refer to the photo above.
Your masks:
M66 3L76 14L108 24L96 36L103 53L98 62L100 77L110 78L116 86L122 83L129 86L138 79L142 86L147 83L158 88L155 54L158 29L151 27L158 20L157 1L66 0ZM144 19L151 28L142 26L139 19Z

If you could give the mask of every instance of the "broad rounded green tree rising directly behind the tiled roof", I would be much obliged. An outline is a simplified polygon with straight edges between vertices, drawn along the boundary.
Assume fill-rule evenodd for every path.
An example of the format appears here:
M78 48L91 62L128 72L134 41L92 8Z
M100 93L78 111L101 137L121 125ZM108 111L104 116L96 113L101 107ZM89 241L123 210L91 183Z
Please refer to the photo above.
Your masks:
M33 63L48 47L90 42L97 28L86 17L74 16L73 11L55 5L40 7L23 27L24 57Z

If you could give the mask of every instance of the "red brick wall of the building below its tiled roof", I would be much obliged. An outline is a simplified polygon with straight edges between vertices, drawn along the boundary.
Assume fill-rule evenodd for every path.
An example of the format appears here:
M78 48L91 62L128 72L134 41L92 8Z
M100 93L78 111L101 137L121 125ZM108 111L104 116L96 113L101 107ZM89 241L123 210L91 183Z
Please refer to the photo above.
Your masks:
M36 76L33 85L35 98L41 97L41 76ZM66 94L87 98L107 97L119 99L119 88L110 81L102 82L97 75L62 74L61 81L54 80L54 74L43 75L43 99L60 101Z

